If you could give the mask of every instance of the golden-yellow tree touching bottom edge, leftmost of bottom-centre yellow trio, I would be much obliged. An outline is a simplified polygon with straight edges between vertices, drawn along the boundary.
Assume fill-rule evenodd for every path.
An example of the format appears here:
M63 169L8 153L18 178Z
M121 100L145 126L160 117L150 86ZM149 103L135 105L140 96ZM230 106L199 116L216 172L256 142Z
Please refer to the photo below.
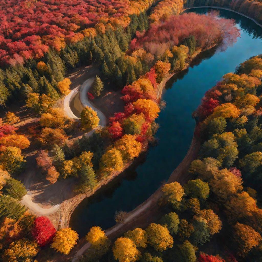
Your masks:
M140 252L135 243L125 237L119 237L113 245L114 258L119 262L134 262L139 259Z

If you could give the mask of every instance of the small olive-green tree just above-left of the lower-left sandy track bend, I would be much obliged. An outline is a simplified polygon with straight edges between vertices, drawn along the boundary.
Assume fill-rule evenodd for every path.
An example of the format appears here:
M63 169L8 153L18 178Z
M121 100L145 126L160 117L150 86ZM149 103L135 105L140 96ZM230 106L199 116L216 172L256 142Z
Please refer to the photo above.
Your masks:
M20 181L14 178L9 178L6 180L6 184L3 187L3 193L12 196L14 199L21 200L26 194L26 189L24 184Z

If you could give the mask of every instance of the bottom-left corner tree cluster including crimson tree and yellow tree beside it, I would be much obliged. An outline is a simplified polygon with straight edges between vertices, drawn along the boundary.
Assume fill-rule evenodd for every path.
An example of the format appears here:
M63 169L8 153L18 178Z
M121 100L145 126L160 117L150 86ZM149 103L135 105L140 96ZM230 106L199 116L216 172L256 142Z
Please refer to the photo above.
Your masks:
M13 187L14 188L14 187ZM41 247L52 247L68 253L78 239L70 228L56 231L47 217L37 217L26 211L10 195L0 196L0 256L2 261L34 261Z

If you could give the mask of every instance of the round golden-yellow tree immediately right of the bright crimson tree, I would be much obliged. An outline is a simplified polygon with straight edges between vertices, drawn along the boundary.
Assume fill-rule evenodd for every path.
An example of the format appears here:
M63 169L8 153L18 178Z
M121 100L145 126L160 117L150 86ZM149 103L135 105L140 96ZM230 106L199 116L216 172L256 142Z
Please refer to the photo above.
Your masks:
M56 249L65 255L69 254L70 250L77 243L78 234L72 228L63 228L56 232L54 236L52 248Z

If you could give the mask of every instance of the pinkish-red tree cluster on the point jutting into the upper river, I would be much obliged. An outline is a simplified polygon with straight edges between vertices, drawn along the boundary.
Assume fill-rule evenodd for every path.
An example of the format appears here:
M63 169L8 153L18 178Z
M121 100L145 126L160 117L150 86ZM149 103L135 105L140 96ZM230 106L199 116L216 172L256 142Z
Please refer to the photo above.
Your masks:
M148 31L131 41L130 50L144 50L156 59L166 58L171 62L177 58L178 50L174 46L186 45L192 54L219 41L235 42L238 36L234 20L219 18L215 12L208 15L185 13L151 24Z

